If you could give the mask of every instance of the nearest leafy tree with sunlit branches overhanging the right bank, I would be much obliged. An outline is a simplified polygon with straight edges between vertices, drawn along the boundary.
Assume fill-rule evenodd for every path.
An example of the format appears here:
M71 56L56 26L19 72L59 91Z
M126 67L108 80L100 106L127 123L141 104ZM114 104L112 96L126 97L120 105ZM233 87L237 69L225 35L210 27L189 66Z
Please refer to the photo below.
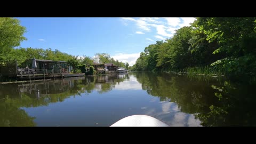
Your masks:
M256 18L197 18L195 28L207 36L209 42L217 41L213 53L226 53L226 57L212 63L229 73L255 73L256 70Z

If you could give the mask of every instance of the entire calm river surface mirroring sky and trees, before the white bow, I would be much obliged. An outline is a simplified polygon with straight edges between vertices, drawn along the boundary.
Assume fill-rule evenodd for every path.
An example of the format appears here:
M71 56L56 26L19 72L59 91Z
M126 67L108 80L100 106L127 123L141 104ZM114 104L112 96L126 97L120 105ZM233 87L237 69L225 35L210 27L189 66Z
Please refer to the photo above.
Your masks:
M254 87L150 72L3 84L0 126L109 126L135 114L170 126L255 126Z

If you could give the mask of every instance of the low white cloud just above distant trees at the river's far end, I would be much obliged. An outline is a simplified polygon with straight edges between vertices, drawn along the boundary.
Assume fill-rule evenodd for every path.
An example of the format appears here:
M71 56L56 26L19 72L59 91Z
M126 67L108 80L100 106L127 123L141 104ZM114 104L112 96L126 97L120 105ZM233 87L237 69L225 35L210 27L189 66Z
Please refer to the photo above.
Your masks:
M136 62L136 60L140 57L140 53L132 53L132 54L117 54L112 56L111 58L122 61L122 62L128 62L129 66L133 66Z

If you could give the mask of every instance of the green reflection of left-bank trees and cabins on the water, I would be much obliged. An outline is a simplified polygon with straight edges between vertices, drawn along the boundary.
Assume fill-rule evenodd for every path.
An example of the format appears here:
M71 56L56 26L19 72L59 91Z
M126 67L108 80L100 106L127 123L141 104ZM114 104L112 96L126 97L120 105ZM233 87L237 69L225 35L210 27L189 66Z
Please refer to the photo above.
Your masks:
M47 106L86 95L97 90L97 85L101 87L99 93L108 92L122 81L124 78L108 75L0 85L0 126L35 126L35 117L28 116L22 107Z

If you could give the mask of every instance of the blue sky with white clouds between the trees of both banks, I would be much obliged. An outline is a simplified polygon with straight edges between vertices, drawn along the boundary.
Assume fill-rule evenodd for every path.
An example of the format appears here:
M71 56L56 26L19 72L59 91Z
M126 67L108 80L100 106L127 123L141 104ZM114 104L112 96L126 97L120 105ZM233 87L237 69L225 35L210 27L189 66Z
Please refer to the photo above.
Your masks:
M17 18L27 28L19 47L52 48L93 57L108 53L135 63L149 44L170 38L194 18Z

